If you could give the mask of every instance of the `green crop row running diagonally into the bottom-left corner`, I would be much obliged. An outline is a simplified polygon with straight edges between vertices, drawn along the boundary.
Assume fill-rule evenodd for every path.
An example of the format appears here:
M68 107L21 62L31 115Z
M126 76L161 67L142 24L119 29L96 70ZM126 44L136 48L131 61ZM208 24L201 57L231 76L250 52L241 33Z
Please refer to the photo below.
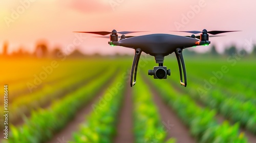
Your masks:
M67 94L65 98L54 102L50 108L33 111L20 127L11 126L8 142L44 142L61 130L74 117L85 103L88 103L113 75L115 69L109 70L87 85ZM5 140L6 141L6 140Z

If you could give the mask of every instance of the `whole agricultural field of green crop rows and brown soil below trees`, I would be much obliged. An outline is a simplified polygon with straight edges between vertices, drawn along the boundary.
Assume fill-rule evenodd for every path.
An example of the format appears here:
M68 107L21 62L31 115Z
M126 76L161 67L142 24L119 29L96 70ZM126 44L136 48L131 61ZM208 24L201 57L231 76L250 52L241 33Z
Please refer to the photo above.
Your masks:
M0 60L0 142L256 142L256 58L187 56L187 87L174 55L134 87L130 56Z

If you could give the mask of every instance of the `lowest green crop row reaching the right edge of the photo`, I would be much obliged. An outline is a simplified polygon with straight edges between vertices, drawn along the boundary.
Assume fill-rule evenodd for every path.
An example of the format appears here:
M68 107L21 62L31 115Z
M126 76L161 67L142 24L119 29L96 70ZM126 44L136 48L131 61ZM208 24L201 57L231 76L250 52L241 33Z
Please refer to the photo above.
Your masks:
M217 109L232 122L241 123L246 129L256 134L256 106L253 101L243 101L232 96L227 96L218 88L209 90L201 95L196 91L197 87L199 87L196 82L191 83L189 86L191 86L191 90L187 91L187 93L191 96L210 108Z

